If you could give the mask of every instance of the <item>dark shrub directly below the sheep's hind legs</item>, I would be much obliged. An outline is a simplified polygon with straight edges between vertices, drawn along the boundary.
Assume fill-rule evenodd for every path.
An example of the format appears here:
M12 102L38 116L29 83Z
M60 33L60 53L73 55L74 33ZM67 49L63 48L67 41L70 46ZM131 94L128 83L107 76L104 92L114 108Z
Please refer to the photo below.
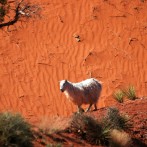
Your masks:
M101 123L93 117L75 114L71 121L70 130L90 144L108 145L110 130L103 128Z

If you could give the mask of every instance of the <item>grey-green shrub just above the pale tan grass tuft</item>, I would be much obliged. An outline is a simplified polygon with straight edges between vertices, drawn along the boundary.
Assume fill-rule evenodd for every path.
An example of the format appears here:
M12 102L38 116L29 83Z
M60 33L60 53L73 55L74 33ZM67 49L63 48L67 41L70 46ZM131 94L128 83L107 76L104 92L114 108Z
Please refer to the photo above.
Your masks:
M125 130L129 127L128 117L121 115L117 108L108 108L106 116L102 119L102 124L106 128Z

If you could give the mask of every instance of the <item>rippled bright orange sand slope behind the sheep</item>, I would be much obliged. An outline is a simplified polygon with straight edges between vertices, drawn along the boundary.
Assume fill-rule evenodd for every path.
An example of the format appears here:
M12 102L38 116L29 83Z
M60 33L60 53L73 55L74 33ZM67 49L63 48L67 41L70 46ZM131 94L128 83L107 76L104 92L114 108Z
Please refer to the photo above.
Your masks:
M62 79L102 81L99 107L114 103L114 90L129 84L139 97L147 95L146 0L31 3L41 17L0 30L0 111L31 121L71 114L76 107L59 91Z

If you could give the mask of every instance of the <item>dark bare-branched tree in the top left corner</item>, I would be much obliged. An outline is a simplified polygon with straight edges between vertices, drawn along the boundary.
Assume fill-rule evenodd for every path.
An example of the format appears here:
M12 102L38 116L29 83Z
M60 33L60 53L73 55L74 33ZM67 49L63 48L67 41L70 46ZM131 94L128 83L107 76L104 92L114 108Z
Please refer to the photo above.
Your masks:
M21 17L31 17L37 14L38 5L31 5L25 0L16 0L9 2L0 0L0 28L14 25L17 21L21 21Z

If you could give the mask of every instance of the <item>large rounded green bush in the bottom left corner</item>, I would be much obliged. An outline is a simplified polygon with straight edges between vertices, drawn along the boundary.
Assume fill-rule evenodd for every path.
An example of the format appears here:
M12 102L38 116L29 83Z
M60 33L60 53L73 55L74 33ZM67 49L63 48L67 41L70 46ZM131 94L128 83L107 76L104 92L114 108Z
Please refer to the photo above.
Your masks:
M31 147L31 126L20 114L0 113L0 146Z

